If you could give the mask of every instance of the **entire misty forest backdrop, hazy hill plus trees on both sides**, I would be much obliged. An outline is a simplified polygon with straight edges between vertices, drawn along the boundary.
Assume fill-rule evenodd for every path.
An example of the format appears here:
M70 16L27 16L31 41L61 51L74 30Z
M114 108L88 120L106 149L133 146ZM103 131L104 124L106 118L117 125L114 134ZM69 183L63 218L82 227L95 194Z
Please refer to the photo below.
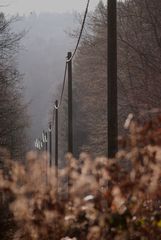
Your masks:
M1 9L3 12L3 8ZM118 3L119 134L129 113L161 105L161 2ZM23 158L47 129L81 14L0 15L0 144ZM74 154L107 148L107 8L88 19L73 61ZM67 86L66 86L67 87ZM59 116L59 156L67 150L67 93Z

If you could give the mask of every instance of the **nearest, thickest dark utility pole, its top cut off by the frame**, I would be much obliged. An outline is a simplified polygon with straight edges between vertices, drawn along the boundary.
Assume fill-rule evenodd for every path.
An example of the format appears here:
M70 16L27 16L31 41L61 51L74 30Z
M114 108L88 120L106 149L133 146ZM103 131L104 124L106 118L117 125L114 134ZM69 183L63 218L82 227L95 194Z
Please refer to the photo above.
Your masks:
M117 115L117 0L108 0L108 157L113 158L118 150Z

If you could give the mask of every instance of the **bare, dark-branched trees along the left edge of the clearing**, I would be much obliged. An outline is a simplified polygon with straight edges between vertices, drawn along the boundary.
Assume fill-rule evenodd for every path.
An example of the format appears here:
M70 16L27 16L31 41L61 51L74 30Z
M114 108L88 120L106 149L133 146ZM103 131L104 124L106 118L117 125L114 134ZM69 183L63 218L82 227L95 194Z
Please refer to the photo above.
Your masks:
M22 75L16 55L24 33L12 31L16 18L7 20L0 13L0 147L7 148L13 158L25 151L27 106L23 98Z

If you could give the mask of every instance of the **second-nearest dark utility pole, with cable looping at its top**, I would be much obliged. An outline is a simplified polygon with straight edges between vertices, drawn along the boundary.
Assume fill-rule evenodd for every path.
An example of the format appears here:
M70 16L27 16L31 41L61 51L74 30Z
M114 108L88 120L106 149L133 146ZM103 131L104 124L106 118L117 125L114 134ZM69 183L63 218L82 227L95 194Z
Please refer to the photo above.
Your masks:
M70 60L72 53L68 52ZM72 59L68 62L68 152L73 153L73 96L72 96Z

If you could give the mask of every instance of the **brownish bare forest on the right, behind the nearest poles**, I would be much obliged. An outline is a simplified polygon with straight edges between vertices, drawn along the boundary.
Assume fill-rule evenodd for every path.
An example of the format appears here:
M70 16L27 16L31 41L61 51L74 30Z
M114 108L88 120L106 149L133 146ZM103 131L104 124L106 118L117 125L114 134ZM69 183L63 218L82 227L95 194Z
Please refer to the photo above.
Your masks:
M119 135L124 133L123 126L129 113L141 120L148 118L150 110L160 109L161 2L125 2L118 4ZM107 10L100 2L88 18L74 61L76 152L81 149L106 154L106 52Z

